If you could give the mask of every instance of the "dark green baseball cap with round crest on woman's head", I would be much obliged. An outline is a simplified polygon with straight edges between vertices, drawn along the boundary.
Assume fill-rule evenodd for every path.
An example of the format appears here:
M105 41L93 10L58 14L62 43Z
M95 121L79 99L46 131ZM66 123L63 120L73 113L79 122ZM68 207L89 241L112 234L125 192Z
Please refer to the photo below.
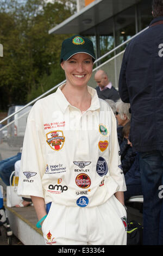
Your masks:
M74 35L62 42L60 62L70 59L74 54L87 53L92 56L93 62L96 59L93 43L90 39L81 35Z

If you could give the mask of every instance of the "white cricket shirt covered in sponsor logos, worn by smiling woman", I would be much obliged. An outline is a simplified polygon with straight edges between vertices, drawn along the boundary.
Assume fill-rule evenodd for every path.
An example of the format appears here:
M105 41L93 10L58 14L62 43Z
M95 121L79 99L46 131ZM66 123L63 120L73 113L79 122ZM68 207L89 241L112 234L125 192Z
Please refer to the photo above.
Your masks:
M45 203L92 207L126 191L116 118L88 87L91 106L82 113L57 92L38 100L24 136L18 194Z

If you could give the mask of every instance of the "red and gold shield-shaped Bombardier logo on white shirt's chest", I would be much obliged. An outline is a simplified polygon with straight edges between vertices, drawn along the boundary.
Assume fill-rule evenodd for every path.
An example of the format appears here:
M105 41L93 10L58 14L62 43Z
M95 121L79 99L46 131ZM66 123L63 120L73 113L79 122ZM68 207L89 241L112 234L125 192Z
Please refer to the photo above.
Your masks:
M51 131L46 134L47 144L55 151L59 151L65 143L64 133L62 131Z

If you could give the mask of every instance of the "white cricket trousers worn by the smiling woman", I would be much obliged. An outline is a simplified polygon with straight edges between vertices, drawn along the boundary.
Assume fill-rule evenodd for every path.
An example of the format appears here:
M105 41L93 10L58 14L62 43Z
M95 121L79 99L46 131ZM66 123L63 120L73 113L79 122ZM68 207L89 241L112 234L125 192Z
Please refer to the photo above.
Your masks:
M52 202L42 232L46 245L126 245L126 218L115 196L92 208Z

